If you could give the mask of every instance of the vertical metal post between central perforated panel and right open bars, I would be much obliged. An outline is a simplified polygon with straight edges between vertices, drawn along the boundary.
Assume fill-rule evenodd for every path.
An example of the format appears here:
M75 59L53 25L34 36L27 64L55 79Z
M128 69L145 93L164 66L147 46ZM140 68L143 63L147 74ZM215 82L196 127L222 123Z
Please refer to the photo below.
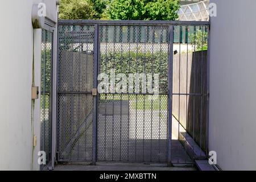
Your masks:
M174 26L169 26L169 57L168 57L168 166L171 163L171 149L172 149L172 72L173 72L173 43L174 43Z

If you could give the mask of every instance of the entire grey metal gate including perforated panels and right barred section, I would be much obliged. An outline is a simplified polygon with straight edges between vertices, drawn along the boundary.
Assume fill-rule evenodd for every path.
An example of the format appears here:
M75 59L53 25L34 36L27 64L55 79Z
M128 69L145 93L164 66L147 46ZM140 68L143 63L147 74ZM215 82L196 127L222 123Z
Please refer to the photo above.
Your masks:
M184 139L189 139L191 131L200 130L200 136L207 131L208 104L205 93L208 75L201 76L208 74L207 52L198 40L192 43L196 39L192 35L200 26L199 31L204 35L209 29L203 26L208 25L209 22L60 20L57 159L94 164L191 163L181 143L185 144ZM181 44L182 30L186 32L186 44ZM176 34L179 44L174 43ZM207 36L202 38L203 42L204 39ZM199 61L207 64L197 64ZM100 83L97 81L100 73L106 73L112 84L119 84L119 79L111 81L113 70L115 76L122 73L126 78L127 88L122 86L121 93L109 90L92 95ZM147 85L143 81L139 88L130 88L129 82L134 84L134 80L131 81L129 74L134 79L144 74L147 81L152 77L152 85L157 82L153 77L158 74L159 94L144 92ZM188 92L188 88L195 89L189 86L192 85L189 80L193 85L198 82L195 86L201 88L200 93ZM203 99L191 102L191 96ZM189 103L197 109L188 107ZM179 117L175 117L176 111ZM192 116L193 121L200 121L195 122L200 127L188 123ZM181 130L185 125L188 130ZM200 137L200 147L204 147L202 141Z

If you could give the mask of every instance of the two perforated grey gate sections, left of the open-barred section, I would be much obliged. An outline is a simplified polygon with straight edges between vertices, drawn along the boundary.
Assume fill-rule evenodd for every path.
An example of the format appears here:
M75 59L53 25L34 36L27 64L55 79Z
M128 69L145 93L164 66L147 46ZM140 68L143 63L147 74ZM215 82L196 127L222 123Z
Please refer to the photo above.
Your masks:
M171 164L175 24L59 22L59 161Z

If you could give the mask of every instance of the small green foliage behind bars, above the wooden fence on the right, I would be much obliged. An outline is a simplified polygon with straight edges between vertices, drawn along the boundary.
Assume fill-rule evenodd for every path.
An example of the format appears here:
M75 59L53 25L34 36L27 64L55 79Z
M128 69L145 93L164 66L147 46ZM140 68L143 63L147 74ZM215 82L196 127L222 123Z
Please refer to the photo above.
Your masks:
M192 47L196 49L196 51L205 51L208 49L208 33L206 31L198 29L188 34L188 38L191 40Z

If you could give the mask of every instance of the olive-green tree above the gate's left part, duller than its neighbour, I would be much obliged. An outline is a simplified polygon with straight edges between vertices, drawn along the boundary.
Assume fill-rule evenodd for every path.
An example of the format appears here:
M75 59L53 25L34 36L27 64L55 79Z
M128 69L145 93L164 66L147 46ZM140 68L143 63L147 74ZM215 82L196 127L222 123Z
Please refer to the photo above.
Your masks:
M60 19L101 19L105 0L61 0Z

